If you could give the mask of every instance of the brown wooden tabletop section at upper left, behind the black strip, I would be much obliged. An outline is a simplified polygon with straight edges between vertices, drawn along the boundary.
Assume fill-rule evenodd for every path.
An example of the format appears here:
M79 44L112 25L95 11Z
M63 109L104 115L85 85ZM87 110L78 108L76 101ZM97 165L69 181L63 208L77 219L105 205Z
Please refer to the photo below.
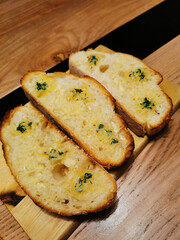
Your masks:
M0 98L162 1L0 1Z

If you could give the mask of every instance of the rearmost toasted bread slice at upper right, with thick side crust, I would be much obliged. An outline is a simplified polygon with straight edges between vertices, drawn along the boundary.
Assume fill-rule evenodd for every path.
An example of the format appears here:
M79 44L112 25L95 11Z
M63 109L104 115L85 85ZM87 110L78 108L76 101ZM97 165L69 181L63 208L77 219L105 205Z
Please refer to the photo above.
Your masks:
M89 50L69 58L70 72L98 80L116 100L117 112L138 136L154 135L168 122L172 101L161 90L162 76L123 53Z

